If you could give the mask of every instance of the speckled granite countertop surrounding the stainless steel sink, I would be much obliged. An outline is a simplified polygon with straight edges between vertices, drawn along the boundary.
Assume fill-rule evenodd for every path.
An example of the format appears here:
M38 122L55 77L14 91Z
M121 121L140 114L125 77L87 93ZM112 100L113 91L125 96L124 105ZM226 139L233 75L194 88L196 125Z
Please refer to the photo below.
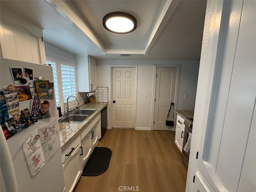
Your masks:
M61 150L80 134L94 118L100 114L100 111L108 105L108 102L87 103L80 106L80 109L97 109L83 123L59 123L60 129L60 146Z

